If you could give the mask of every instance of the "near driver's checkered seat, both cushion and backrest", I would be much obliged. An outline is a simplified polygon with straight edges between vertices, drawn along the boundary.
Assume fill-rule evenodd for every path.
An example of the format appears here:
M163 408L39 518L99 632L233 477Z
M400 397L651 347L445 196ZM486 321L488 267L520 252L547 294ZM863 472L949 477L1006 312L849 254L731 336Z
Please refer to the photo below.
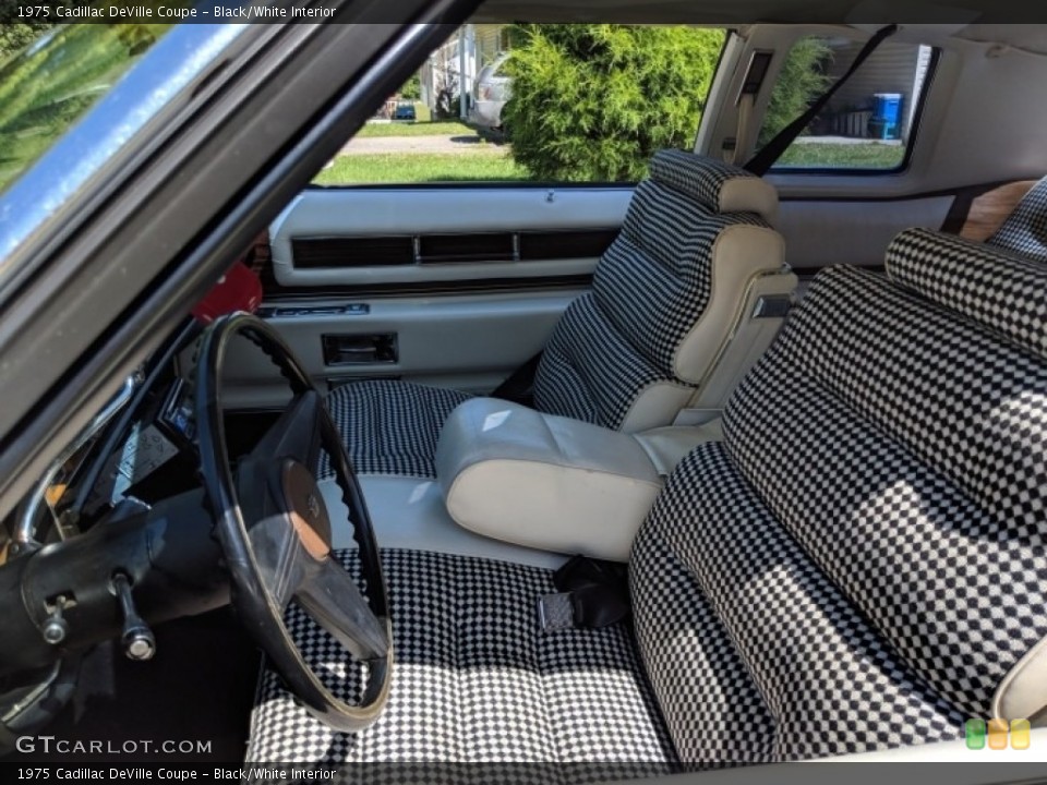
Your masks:
M953 739L1047 704L1047 265L911 230L887 277L822 271L724 436L637 535L634 633L540 633L543 570L387 552L386 714L334 734L266 674L250 757L578 782ZM347 672L293 624L318 672Z

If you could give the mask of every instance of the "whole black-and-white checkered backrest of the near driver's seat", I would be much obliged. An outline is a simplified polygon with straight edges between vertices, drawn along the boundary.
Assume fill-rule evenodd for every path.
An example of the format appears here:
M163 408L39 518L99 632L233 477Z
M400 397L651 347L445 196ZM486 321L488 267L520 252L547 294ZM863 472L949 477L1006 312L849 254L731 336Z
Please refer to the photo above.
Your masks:
M634 543L681 756L841 754L1032 716L1045 535L1047 265L910 230L887 277L822 271Z

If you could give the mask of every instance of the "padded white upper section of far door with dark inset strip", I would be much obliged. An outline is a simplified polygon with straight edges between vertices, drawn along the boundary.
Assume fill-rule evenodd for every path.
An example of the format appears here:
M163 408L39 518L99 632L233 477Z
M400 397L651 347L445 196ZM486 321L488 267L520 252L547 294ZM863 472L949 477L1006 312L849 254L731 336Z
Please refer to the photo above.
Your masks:
M591 275L631 195L630 188L311 190L270 229L273 273L281 286L315 288ZM305 249L301 264L296 251L305 256Z

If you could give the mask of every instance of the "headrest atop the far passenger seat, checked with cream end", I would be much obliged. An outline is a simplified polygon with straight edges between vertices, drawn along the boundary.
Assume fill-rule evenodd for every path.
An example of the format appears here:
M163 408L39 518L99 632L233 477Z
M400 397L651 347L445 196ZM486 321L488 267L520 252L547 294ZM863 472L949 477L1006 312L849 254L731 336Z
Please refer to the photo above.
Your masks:
M778 191L745 169L685 150L659 150L651 180L681 191L717 213L756 213L769 224L778 217Z

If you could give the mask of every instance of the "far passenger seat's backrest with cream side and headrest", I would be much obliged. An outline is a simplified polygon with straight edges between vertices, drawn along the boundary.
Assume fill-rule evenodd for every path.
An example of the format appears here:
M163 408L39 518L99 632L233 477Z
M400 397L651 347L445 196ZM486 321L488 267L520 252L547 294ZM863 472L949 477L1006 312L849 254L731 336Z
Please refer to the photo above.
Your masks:
M795 277L771 229L774 189L749 172L662 150L622 230L539 364L534 404L605 427L667 425L710 376L762 279ZM775 325L777 326L777 325Z

